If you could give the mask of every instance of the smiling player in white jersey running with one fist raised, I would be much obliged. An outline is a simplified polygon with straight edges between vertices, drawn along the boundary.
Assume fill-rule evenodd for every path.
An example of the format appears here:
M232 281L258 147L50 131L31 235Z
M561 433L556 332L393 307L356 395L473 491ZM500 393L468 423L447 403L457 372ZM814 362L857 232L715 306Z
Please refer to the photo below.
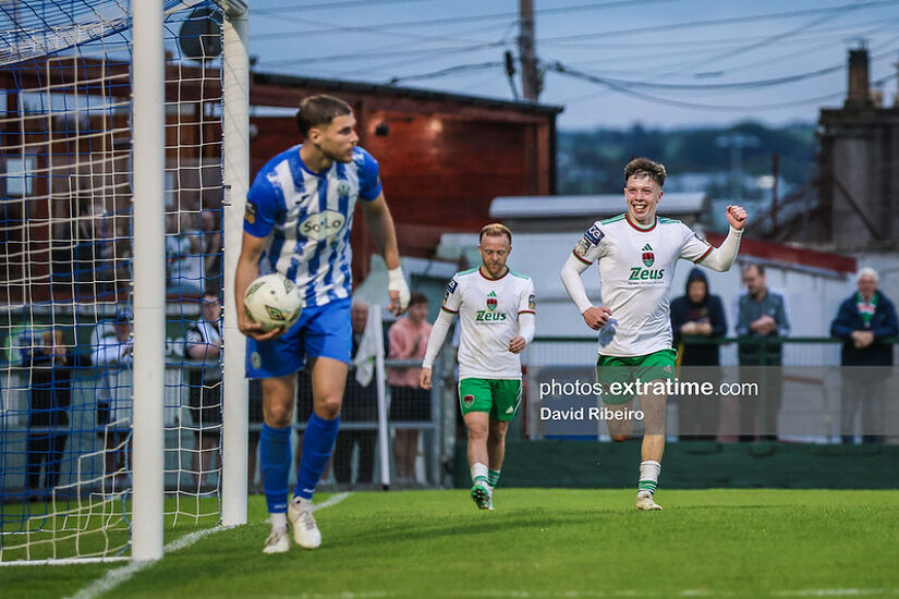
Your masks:
M574 246L562 267L561 278L584 322L599 331L596 379L604 388L612 382L649 382L640 395L646 433L641 449L637 510L661 510L654 494L665 449L665 394L655 393L654 381L663 384L675 377L677 352L671 350L671 320L668 290L678 258L725 271L737 258L746 211L727 207L730 231L715 248L698 239L685 224L656 217L665 184L665 167L646 158L631 160L624 168L623 215L596 221ZM602 305L587 298L581 273L599 262ZM631 414L633 396L603 394L607 407ZM624 411L624 412L620 412ZM610 419L613 440L630 437L630 419Z

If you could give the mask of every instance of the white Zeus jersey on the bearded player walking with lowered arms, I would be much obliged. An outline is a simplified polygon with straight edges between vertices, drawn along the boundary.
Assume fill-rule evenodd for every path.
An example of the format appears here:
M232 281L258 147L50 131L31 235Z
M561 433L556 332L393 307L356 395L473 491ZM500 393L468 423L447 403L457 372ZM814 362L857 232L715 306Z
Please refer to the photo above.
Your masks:
M534 313L531 278L508 270L488 279L479 268L457 272L444 296L442 309L458 314L462 326L459 378L520 379L521 359L509 351L519 334L519 315Z

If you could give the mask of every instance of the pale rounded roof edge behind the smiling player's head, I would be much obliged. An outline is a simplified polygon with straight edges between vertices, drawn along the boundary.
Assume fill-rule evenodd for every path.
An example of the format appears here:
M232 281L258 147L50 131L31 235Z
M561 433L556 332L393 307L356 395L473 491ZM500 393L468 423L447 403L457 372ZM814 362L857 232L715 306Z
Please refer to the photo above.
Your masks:
M661 196L659 216L696 215L708 207L704 193L671 193ZM490 203L490 217L507 218L570 218L620 215L627 210L622 194L588 196L500 196Z

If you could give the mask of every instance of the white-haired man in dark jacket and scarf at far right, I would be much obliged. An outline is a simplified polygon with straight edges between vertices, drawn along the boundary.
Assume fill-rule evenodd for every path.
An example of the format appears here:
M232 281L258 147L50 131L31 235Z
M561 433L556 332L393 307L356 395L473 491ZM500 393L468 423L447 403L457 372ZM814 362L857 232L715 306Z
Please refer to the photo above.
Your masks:
M862 411L862 442L880 442L884 419L884 378L892 365L892 344L885 338L899 335L892 302L877 290L878 276L873 268L859 271L859 291L848 297L830 323L830 334L843 340L840 364L840 432L843 443L853 441L854 420Z

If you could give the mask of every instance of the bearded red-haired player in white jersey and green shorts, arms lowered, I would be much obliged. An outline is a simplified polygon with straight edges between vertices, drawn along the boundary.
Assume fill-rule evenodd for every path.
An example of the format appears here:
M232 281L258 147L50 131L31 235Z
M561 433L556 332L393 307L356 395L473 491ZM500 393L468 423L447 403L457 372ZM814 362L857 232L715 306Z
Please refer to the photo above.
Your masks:
M521 401L519 354L534 339L534 283L506 266L512 250L507 227L484 227L477 248L481 267L457 272L447 285L420 382L430 389L434 359L453 315L459 314L459 407L469 429L472 499L482 510L493 510L493 491L506 456L506 430Z

